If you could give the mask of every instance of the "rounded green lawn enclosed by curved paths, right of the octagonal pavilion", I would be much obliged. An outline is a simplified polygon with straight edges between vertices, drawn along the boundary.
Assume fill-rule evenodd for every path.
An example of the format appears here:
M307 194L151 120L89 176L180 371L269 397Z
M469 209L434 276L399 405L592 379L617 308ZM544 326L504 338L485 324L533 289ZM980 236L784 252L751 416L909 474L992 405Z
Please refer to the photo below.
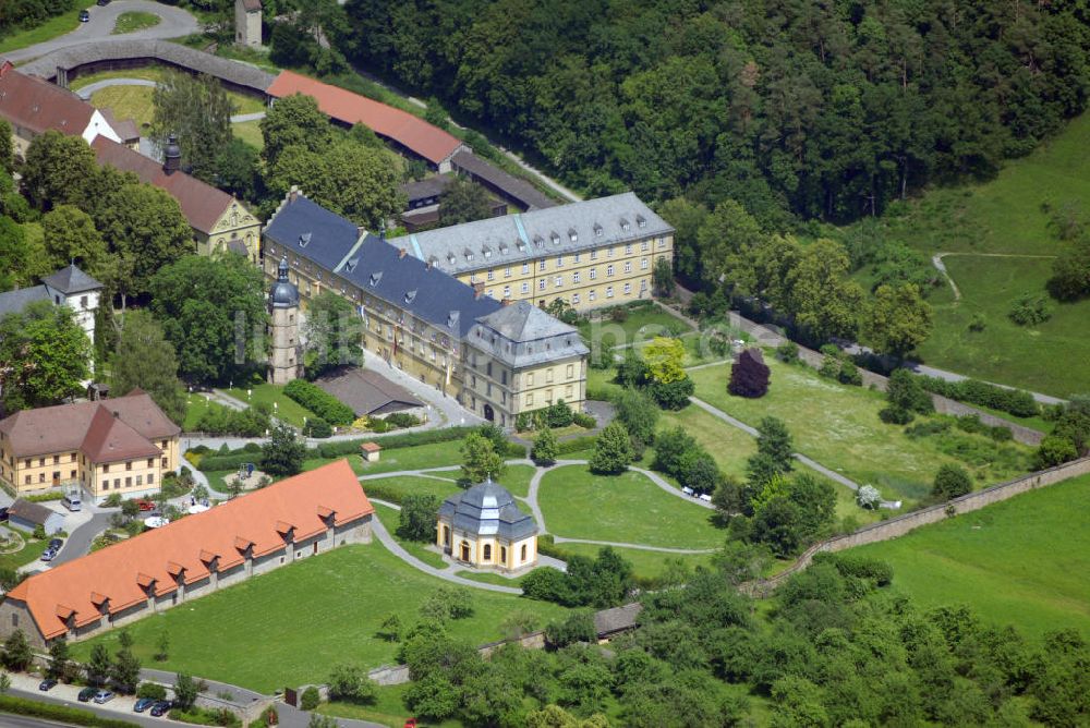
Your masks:
M715 548L725 537L711 524L712 511L632 471L595 475L585 465L555 468L542 478L537 500L549 533L568 538Z

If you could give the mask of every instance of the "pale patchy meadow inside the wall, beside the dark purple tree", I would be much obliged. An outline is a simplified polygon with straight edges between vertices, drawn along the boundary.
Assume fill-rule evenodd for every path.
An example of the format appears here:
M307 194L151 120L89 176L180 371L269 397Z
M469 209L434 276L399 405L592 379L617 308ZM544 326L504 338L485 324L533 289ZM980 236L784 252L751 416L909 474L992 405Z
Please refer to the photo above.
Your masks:
M879 420L879 410L885 407L880 392L839 385L773 356L765 356L765 363L772 368L772 386L760 399L727 393L726 365L692 373L697 396L753 426L762 417L779 417L787 423L798 451L861 485L874 485L887 498L919 500L946 462L965 464L978 485L1001 483L1029 468L1025 446L995 446L989 438L961 432L912 439L904 427ZM974 449L962 456L971 462L943 451L954 448Z

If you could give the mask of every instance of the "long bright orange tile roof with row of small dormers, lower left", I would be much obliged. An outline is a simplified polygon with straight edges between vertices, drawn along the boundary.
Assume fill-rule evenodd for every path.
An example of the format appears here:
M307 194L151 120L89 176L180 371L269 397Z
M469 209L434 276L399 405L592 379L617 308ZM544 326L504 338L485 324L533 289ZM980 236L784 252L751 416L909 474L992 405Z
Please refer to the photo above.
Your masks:
M282 550L283 524L301 541L325 531L323 519L342 525L374 511L348 461L339 460L31 577L8 598L27 605L48 640L68 631L66 615L77 627L90 624L102 608L118 614L146 600L146 590L161 596L179 580L205 579L214 559L223 570L243 562L246 548L255 557Z

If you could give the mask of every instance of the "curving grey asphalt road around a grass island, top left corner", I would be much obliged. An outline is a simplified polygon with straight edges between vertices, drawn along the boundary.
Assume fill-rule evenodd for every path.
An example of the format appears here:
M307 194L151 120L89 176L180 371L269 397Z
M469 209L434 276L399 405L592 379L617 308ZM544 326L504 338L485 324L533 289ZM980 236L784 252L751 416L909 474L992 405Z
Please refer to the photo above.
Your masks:
M181 38L183 36L197 33L201 29L197 20L180 8L162 5L148 0L114 0L105 8L92 5L89 9L90 21L81 23L80 27L69 34L62 35L52 40L39 43L36 46L21 48L3 54L13 63L38 58L55 50L77 46L83 43L96 40L121 40L121 39L150 39L150 38ZM145 12L159 16L159 24L135 33L124 35L111 35L113 24L118 15L125 12Z

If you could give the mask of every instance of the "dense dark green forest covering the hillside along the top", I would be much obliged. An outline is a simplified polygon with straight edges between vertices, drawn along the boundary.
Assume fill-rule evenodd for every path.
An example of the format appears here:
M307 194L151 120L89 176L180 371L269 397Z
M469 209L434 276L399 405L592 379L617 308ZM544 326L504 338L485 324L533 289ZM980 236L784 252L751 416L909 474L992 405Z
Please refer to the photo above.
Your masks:
M337 45L589 194L765 229L986 178L1087 102L1080 2L348 0Z

